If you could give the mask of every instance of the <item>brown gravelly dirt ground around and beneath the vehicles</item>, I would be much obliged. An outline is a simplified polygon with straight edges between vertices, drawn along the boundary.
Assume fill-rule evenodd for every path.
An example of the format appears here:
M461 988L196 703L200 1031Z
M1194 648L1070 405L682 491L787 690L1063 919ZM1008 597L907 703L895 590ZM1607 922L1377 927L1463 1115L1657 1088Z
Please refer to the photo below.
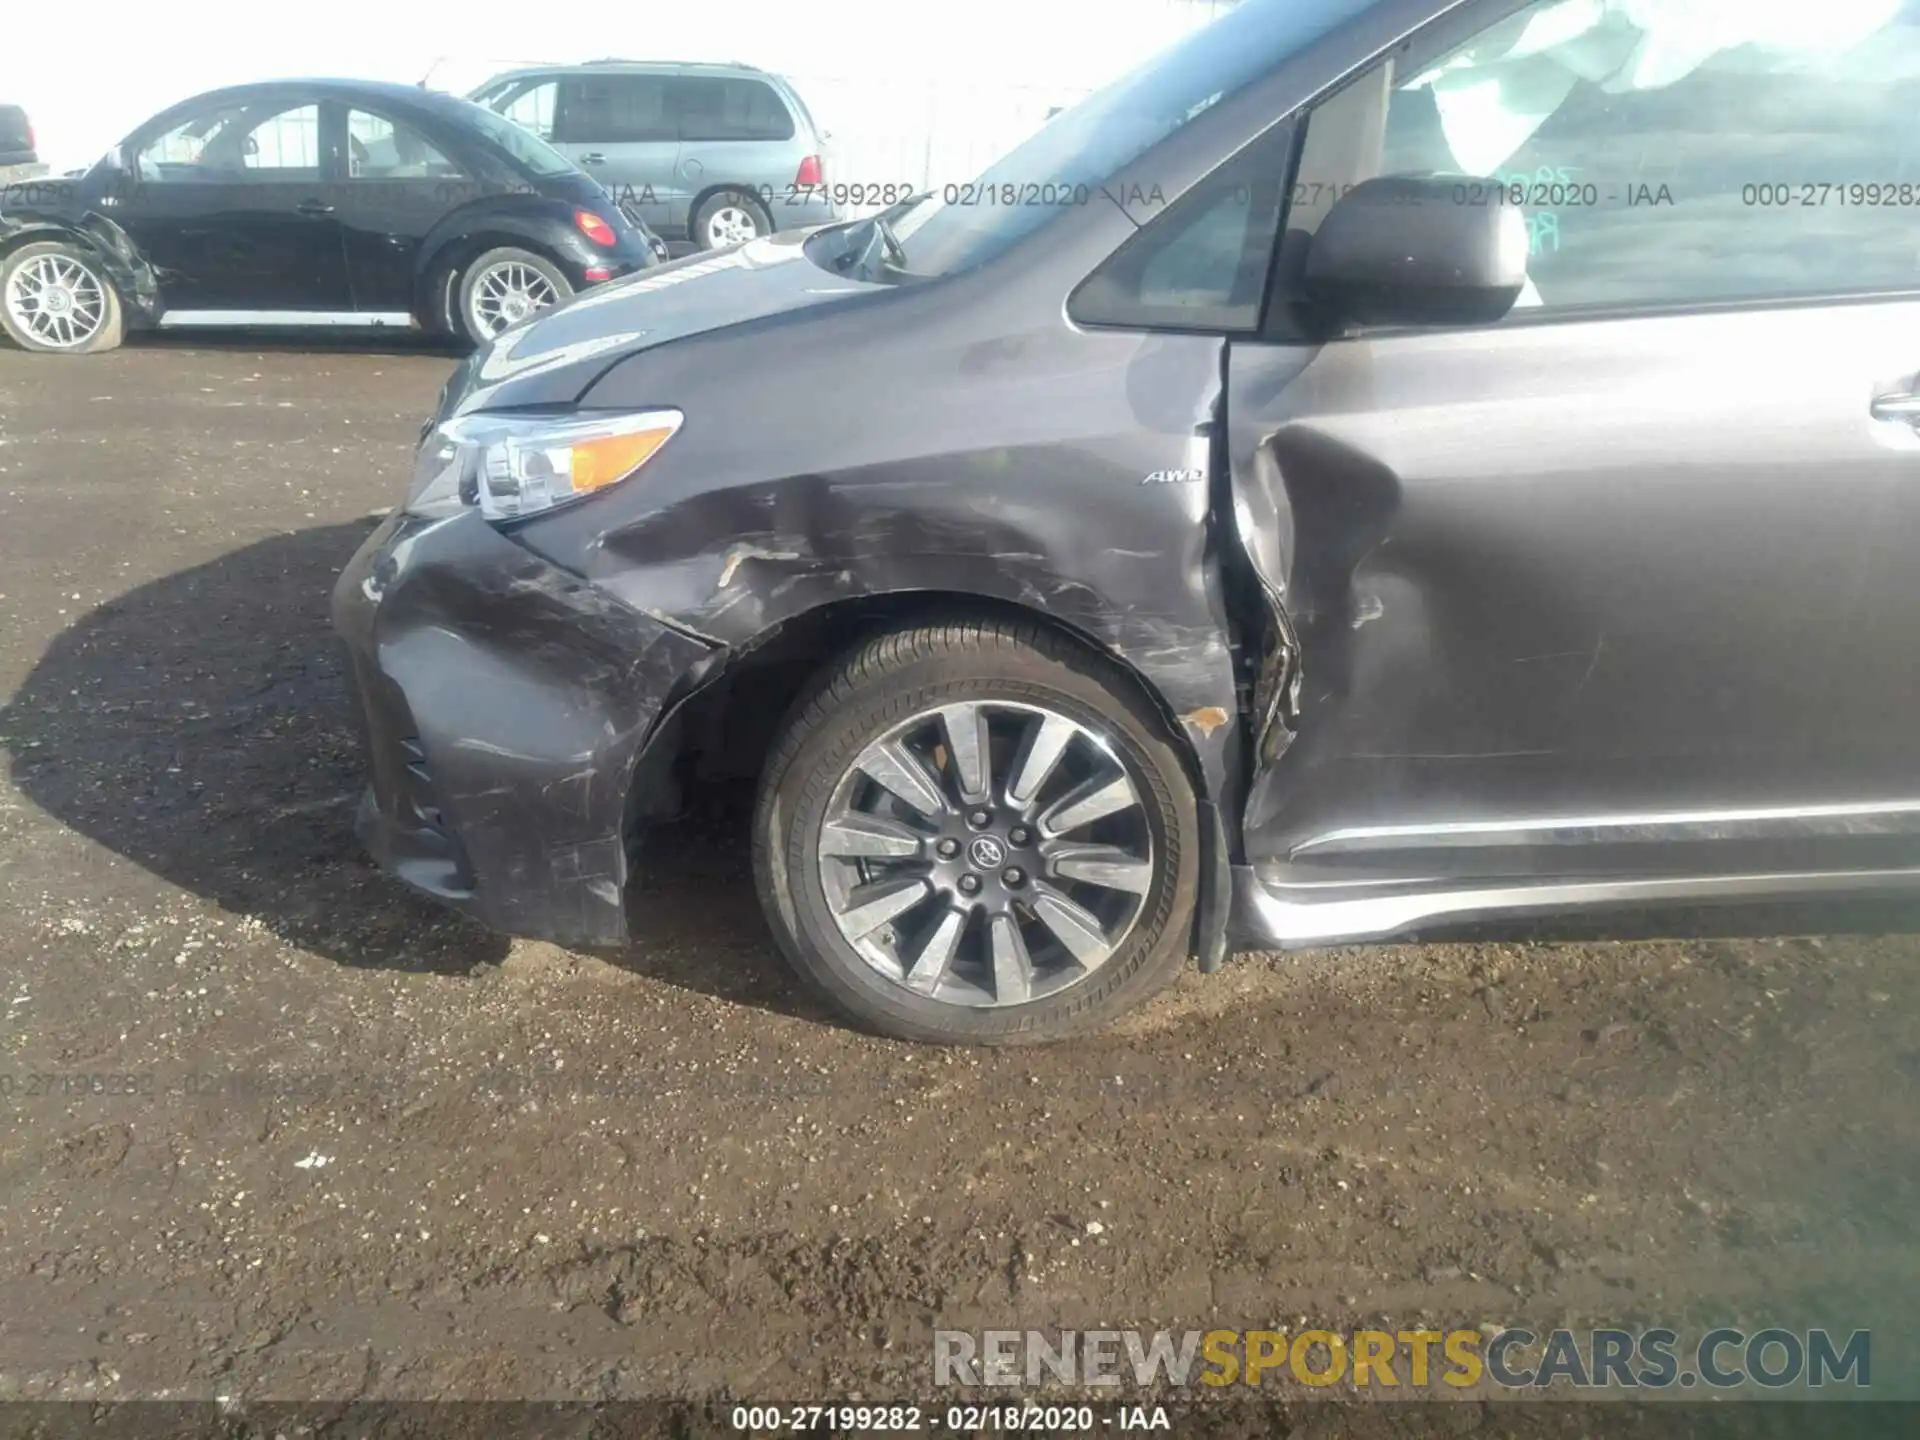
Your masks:
M384 879L326 597L449 365L0 351L0 1398L881 1400L935 1323L1300 1319L1872 1327L1920 1394L1910 914L1242 956L977 1054L801 993L726 810L618 960Z

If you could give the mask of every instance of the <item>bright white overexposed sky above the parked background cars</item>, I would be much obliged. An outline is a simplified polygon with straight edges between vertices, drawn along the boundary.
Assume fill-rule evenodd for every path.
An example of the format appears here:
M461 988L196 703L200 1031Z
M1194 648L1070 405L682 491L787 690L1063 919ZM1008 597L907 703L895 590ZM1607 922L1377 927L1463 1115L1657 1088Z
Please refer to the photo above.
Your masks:
M699 0L574 17L524 0L328 0L305 23L257 0L196 0L156 10L98 46L84 81L38 63L35 46L0 46L0 100L27 108L54 171L90 165L148 115L200 90L301 75L470 90L516 63L599 58L714 60L791 77L820 123L876 156L876 127L922 142L958 134L979 163L1044 117L1123 73L1208 17L1213 0L948 0L900 8L795 6L791 0ZM551 36L551 38L549 38ZM1004 140L1002 140L1002 132ZM1002 142L1002 144L987 144ZM849 177L849 179L897 179ZM912 177L908 177L912 179ZM960 177L964 179L964 177Z

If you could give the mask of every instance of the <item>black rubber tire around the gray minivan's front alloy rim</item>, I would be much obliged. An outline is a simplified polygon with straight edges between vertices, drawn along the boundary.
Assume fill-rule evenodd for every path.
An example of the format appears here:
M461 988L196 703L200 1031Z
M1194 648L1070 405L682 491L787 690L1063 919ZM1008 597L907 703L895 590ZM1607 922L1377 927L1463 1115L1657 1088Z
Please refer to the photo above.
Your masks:
M964 701L1039 705L1098 730L1152 831L1154 876L1131 933L1083 981L1025 1004L970 1008L881 975L841 935L820 876L820 828L862 749L908 716ZM862 1025L933 1044L1056 1041L1142 1004L1187 962L1200 845L1181 756L1129 680L1044 626L1000 620L889 632L833 664L787 716L753 824L760 904L793 968Z

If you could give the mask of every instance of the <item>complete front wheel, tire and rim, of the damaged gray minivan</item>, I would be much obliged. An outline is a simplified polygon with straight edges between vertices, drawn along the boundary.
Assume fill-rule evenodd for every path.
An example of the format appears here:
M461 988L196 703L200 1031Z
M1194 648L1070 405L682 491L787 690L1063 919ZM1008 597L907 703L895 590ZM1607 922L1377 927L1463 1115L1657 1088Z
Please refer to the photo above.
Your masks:
M950 666L958 664L958 672ZM950 701L945 697L952 697ZM1054 801L1044 799L1044 791L1014 797L987 783L979 799L966 801L948 795L929 810L931 801L916 803L914 808L935 816L945 816L948 835L960 828L960 839L941 839L939 854L933 860L931 837L922 837L927 860L908 858L906 866L947 864L966 870L989 866L985 883L975 874L895 881L891 897L918 895L910 906L893 904L891 914L910 908L922 920L925 906L945 918L937 922L937 933L914 960L906 950L906 941L887 941L889 954L881 956L895 972L912 960L912 973L887 973L887 968L854 947L870 947L872 939L860 939L874 929L874 922L858 929L843 924L851 910L845 910L845 885L883 887L885 876L868 874L868 860L856 876L843 874L839 879L826 874L822 854L881 854L881 851L828 851L818 849L820 837L833 828L835 804L845 799L854 804L847 791L843 772L847 758L866 743L866 732L876 724L889 726L902 712L908 726L922 726L925 716L943 716L945 710L924 710L924 705L960 705L972 714L981 710L1014 710L1018 724L1064 726L1071 733L1087 737L1083 756L1091 758L1089 774L1077 783L1081 789L1068 789ZM868 634L858 643L826 657L816 668L806 687L793 699L781 716L780 739L768 756L758 781L758 803L753 826L755 876L762 906L776 939L787 960L808 977L824 995L851 1012L868 1027L897 1039L927 1043L964 1044L1008 1044L1027 1041L1060 1039L1071 1033L1106 1025L1127 1014L1133 1006L1165 985L1190 954L1192 922L1198 914L1198 899L1206 872L1206 835L1198 814L1200 795L1196 791L1190 766L1181 755L1181 737L1169 732L1152 707L1142 703L1139 687L1129 684L1112 659L1098 649L1089 649L1069 639L1058 626L1050 626L1039 614L1021 614L1010 620L1004 614L983 616L975 612L935 612L927 618L891 624ZM1039 707L1035 710L1035 707ZM1020 712L1025 712L1021 718ZM948 724L945 720L937 724ZM981 747L975 751L975 772L991 781L995 774L993 755L1000 762L1010 758L1000 749L1014 737L1000 735L989 749L987 722L979 724ZM918 732L916 732L918 733ZM952 732L948 732L952 733ZM852 739L849 739L852 735ZM1029 743L1033 732L1029 730ZM906 745L908 741L899 741ZM945 741L941 741L945 743ZM849 749L851 747L851 749ZM1054 758L1062 755L1060 741L1054 743ZM1158 758L1156 758L1158 755ZM981 758L985 756L985 768ZM935 764L945 768L943 760ZM826 768L822 768L826 766ZM914 766L902 762L906 774ZM1018 768L1018 760L1014 762ZM1046 762L1052 770L1054 760ZM1119 770L1123 780L1114 781L1112 772ZM856 772L852 772L856 774ZM868 768L866 774L881 774ZM922 774L931 774L922 770ZM1012 774L1012 770L1004 772ZM1044 772L1043 772L1044 774ZM1127 785L1127 780L1133 783ZM872 789L870 781L858 781ZM947 781L962 783L962 781ZM979 783L979 781L975 781ZM1125 787L1127 799L1117 806L1110 799L1116 787ZM935 791L902 791L931 797ZM943 785L945 789L945 785ZM829 793L831 791L831 793ZM1044 804L1073 804L1079 793L1098 791L1106 799L1104 808L1094 810L1079 824L1106 824L1100 816L1114 810L1137 810L1137 826L1131 839L1114 833L1094 833L1094 851L1108 851L1098 858L1096 870L1131 870L1129 877L1110 876L1069 876L1066 868L1052 870L1050 860L1043 860L1048 845L1066 845L1077 851L1085 839L1048 841ZM968 814L968 806L979 806ZM1098 799L1094 801L1098 804ZM856 814L860 828L866 826L864 810ZM966 818L964 818L966 816ZM995 816L995 818L989 818ZM891 828L887 839L908 839L912 831L895 820L874 822ZM1008 826L1012 826L1008 829ZM1073 829L1068 826L1066 829ZM1058 831L1060 835L1066 829ZM939 831L933 831L939 833ZM991 854L968 858L968 835L973 845L993 847ZM1144 835L1144 839L1142 839ZM1150 847L1140 851L1140 845ZM1029 849L1031 847L1031 849ZM885 851L885 854L902 854ZM960 856L954 860L952 856ZM1131 856L1131 858L1129 858ZM1152 856L1150 860L1146 856ZM1064 866L1064 854L1062 866ZM1108 860L1123 864L1108 864ZM810 860L820 866L812 874ZM1002 860L1014 860L1004 872L1004 883L996 874ZM1031 864L1027 864L1031 860ZM837 862L839 864L839 862ZM883 862L889 864L889 862ZM1148 868L1150 866L1150 868ZM1142 883L1142 874L1150 879ZM1112 906L1079 908L1069 899L1075 879L1102 887L1098 893L1108 900L1121 899L1123 893L1139 895L1129 916L1125 906L1119 914ZM972 885L972 889L968 889ZM835 900L833 895L841 899ZM858 891L856 891L858 893ZM977 897L968 900L966 897ZM885 902L885 900L883 900ZM856 906L872 908L872 906ZM1054 910L1052 918L1048 910ZM841 918L835 918L841 912ZM1064 914L1058 914L1064 912ZM1025 920L1021 920L1025 916ZM1062 925L1062 918L1068 920ZM987 985L983 979L987 943L981 924L993 925L993 964L991 998L981 1000ZM979 924L975 924L979 922ZM904 922L902 924L910 924ZM910 925L912 927L912 925ZM1004 933L1002 933L1004 927ZM964 995L952 995L947 983L950 973L958 977L968 962L960 958L960 945L972 929L975 950L972 964L975 972L960 981ZM1027 943L1020 941L1020 931L1039 933L1043 945L1050 947L1054 960L1043 960L1043 948L1029 956ZM893 935L891 922L881 935ZM1050 935L1058 937L1052 941ZM945 937L945 943L941 941ZM924 937L922 937L924 939ZM1002 939L1006 950L1002 950ZM920 947L916 947L920 948ZM927 952L937 952L933 970L927 970ZM1006 970L1002 970L1002 962ZM881 975L876 977L876 968ZM1014 979L1014 989L1006 983ZM1031 983L1031 993L1029 993ZM972 998L968 998L972 996ZM985 1004L987 1008L981 1008Z

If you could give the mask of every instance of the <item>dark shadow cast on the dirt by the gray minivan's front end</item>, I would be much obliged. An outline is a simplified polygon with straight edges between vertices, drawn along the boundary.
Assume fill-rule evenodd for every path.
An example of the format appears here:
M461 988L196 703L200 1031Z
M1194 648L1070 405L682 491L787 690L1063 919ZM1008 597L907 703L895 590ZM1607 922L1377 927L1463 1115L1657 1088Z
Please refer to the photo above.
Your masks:
M415 895L353 837L361 739L328 597L374 520L275 536L100 605L0 710L12 780L56 820L346 966L467 973L501 935ZM655 837L636 943L603 958L812 1010L774 952L735 797Z

